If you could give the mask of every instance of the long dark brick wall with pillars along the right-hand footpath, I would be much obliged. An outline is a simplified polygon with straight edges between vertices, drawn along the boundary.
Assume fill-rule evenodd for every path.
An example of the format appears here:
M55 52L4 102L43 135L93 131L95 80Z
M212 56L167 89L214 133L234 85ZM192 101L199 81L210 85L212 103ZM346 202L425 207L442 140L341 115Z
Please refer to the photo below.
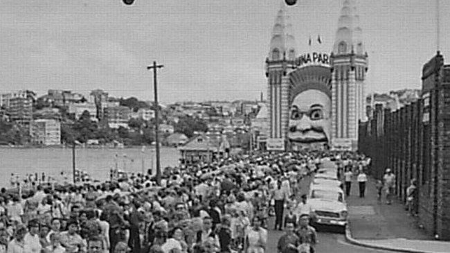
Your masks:
M442 55L424 64L419 101L395 112L377 107L359 127L359 151L372 157L370 174L381 178L392 168L402 202L415 178L420 223L450 241L450 66Z

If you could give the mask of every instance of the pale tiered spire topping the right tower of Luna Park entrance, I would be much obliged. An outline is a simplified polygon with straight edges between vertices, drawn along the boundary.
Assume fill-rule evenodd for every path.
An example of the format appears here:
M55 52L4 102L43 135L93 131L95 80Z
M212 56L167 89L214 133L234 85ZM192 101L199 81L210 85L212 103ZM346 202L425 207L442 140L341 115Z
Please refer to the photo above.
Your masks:
M359 26L359 15L355 0L344 0L341 16L338 21L336 40L333 46L334 54L356 53L363 55L362 29Z

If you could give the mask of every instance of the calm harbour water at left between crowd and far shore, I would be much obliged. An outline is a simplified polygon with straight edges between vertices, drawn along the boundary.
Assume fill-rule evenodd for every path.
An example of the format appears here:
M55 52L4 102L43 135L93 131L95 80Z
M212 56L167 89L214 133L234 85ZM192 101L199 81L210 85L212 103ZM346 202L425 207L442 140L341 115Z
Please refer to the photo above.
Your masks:
M176 148L161 147L161 168L179 164ZM141 173L156 169L156 152L146 148L77 148L76 167L86 171L95 180L108 180L109 170L118 168L126 172ZM11 174L42 172L56 180L72 180L71 148L0 148L0 187L10 186ZM61 173L64 173L63 175Z

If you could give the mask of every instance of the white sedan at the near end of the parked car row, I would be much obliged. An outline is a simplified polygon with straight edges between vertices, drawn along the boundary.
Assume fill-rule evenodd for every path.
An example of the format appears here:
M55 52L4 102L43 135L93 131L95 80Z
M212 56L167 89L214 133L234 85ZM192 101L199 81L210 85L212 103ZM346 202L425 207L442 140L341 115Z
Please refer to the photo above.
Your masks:
M309 205L314 217L313 225L347 225L348 209L344 192L338 186L311 184Z

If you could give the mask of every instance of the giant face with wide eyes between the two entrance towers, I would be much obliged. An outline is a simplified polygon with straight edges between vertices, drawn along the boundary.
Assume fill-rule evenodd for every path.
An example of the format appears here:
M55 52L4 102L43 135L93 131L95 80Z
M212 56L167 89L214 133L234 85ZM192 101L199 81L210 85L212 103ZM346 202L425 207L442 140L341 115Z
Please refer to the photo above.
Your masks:
M330 141L331 99L318 89L307 89L292 101L287 138L294 143Z

